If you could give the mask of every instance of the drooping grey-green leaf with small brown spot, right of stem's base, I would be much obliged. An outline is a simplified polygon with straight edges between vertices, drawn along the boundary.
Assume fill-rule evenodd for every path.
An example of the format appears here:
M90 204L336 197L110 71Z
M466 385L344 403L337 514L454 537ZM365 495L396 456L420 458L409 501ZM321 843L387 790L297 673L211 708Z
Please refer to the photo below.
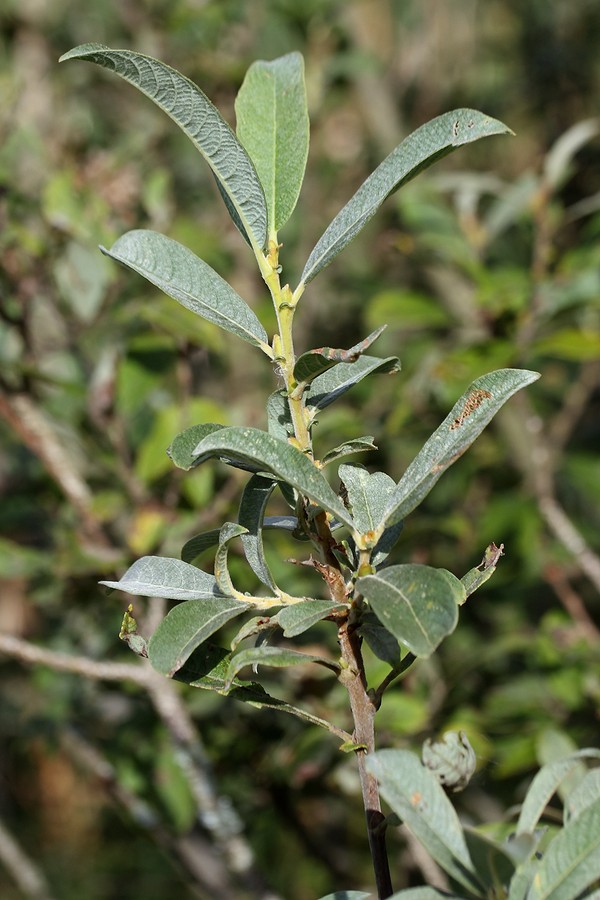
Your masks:
M443 787L408 750L379 750L366 758L381 795L450 877L481 896L458 816Z

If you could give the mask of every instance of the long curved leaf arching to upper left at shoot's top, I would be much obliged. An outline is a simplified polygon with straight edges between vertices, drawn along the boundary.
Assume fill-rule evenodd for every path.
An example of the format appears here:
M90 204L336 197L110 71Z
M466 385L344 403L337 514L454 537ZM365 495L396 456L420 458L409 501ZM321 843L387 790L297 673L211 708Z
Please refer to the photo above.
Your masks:
M246 240L267 242L267 206L254 165L234 132L199 87L157 59L102 44L82 44L60 62L86 59L116 72L138 88L179 125L200 151L232 218Z

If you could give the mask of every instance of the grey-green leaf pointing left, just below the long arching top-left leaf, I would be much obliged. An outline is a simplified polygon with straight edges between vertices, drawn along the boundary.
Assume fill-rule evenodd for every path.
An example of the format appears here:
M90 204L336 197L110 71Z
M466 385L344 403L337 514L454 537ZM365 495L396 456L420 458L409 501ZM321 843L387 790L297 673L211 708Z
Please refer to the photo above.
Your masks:
M268 335L248 304L183 244L156 231L128 231L103 253L143 275L197 316L271 356Z

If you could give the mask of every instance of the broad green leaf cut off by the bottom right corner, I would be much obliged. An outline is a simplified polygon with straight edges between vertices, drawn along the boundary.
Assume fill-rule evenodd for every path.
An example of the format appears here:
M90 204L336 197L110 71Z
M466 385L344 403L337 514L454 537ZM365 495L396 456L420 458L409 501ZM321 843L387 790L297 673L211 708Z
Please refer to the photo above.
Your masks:
M600 800L595 800L550 841L527 900L583 897L599 878Z

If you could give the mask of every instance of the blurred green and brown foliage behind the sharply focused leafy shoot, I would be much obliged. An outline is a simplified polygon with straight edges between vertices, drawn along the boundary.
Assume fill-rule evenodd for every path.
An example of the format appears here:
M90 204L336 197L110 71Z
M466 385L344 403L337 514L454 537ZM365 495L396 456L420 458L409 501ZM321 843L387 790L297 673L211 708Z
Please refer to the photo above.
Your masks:
M2 636L135 662L117 640L127 601L97 581L140 555L178 555L192 534L234 514L242 473L209 464L182 477L165 448L199 421L263 426L274 384L251 348L98 252L132 227L163 231L272 328L252 260L191 145L129 86L93 66L59 67L59 55L99 41L158 56L233 122L251 62L297 49L312 142L282 234L291 283L335 212L409 131L472 106L516 132L462 149L389 200L310 286L297 317L300 350L350 346L388 323L376 352L398 354L402 372L326 410L317 449L371 433L380 449L362 461L396 478L473 378L512 365L543 376L406 523L398 561L460 576L492 540L506 555L456 633L386 695L380 744L418 749L464 728L479 770L460 807L474 821L518 802L557 748L597 744L599 40L593 0L5 0ZM319 589L306 568L283 561L297 547L277 537L268 552L288 590ZM252 587L241 560L235 574ZM161 614L143 600L135 610L146 631ZM325 624L307 640L334 646ZM2 842L6 828L50 887L17 887L5 862L3 898L211 896L186 864L193 840L205 868L214 857L229 869L213 896L310 900L369 887L354 761L325 733L174 687L234 823L225 844L243 845L236 863L218 847L154 695L14 655L0 654ZM378 667L385 674L376 660L370 667L374 679ZM343 692L326 677L291 670L268 687L347 724ZM404 838L390 852L396 889L422 880Z

